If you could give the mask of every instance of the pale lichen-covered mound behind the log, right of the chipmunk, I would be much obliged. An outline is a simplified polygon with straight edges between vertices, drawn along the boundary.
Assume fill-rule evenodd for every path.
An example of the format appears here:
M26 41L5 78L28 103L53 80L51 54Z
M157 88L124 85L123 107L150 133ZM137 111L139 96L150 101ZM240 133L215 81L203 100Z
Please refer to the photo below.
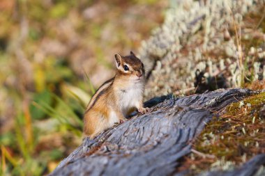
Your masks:
M265 77L264 0L183 1L175 5L167 10L164 24L139 49L147 70L158 61L146 99L176 91L194 93L197 69L205 72L205 81L221 75L225 87L245 87L245 83ZM220 86L212 89L216 88Z

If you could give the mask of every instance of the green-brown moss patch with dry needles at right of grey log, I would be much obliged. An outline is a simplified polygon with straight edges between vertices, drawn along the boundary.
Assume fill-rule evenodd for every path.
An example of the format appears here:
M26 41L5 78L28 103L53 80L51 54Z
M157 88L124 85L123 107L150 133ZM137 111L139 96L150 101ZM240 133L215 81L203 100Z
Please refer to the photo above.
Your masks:
M222 159L239 164L264 152L265 120L260 113L264 102L265 93L259 93L227 106L224 115L213 118L193 145L212 158L190 156L194 171L212 168L213 163Z

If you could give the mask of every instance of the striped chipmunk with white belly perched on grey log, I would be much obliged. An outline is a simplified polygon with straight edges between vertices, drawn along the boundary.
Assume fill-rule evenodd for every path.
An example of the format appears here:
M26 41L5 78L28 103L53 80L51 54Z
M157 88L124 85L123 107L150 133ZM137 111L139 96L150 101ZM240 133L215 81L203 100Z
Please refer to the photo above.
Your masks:
M91 139L137 109L145 113L143 93L146 83L144 64L130 51L130 56L115 54L116 74L105 81L91 98L84 114L84 134Z

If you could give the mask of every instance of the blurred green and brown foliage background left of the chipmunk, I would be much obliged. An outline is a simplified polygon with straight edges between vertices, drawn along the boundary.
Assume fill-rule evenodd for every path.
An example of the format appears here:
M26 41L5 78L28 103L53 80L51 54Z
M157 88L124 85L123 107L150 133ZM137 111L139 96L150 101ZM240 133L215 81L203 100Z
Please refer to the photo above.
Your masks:
M162 23L166 0L0 1L0 175L50 173L82 142L82 115Z

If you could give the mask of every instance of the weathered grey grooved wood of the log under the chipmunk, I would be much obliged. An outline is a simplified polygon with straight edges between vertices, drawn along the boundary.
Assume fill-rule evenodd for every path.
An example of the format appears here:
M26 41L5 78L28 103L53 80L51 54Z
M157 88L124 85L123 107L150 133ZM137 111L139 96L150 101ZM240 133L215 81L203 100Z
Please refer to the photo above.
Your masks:
M145 103L151 107L148 113L135 115L92 141L84 138L51 175L183 175L176 173L176 168L181 165L181 157L190 153L192 139L213 115L220 115L227 105L252 94L255 92L236 88L151 99ZM264 160L261 155L258 161L249 161L253 169L243 167L218 174L252 175Z

